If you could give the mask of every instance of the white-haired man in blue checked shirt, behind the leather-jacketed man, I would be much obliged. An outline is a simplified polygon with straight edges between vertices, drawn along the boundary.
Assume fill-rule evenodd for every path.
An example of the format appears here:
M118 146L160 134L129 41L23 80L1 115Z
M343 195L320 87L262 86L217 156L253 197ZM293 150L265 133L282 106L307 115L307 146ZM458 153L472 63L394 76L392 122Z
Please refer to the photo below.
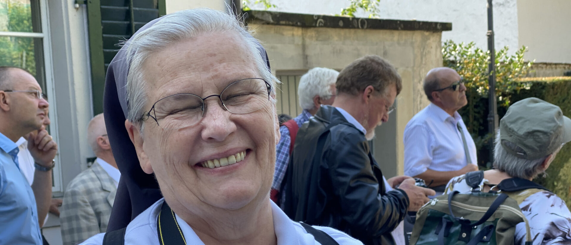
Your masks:
M297 130L301 127L301 124L307 122L312 115L317 113L321 105L330 106L333 104L336 94L335 81L337 81L337 75L339 75L339 71L315 67L299 79L297 94L299 95L299 105L303 111L296 118L285 122L280 127L281 137L276 147L276 170L271 192L271 198L274 202L280 203L278 199L283 199L283 195L278 195L278 193L286 175L289 155L293 150Z

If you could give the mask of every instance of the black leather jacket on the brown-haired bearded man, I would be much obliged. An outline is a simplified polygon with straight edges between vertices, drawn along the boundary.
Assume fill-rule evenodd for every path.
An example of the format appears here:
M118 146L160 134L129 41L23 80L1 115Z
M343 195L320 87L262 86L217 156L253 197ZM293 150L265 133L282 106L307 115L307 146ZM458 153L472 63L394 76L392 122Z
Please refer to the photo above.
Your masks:
M336 228L364 244L395 244L391 231L409 204L404 191L385 191L363 132L332 106L322 106L297 132L284 185L289 218Z

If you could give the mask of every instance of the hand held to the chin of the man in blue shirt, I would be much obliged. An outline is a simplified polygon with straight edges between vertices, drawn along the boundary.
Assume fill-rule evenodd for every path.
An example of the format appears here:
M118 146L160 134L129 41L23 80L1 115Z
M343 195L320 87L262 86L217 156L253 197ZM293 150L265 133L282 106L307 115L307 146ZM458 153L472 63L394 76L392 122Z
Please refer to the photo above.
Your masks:
M44 167L51 167L55 154L58 152L58 144L54 142L45 129L33 131L28 138L28 150L34 161Z

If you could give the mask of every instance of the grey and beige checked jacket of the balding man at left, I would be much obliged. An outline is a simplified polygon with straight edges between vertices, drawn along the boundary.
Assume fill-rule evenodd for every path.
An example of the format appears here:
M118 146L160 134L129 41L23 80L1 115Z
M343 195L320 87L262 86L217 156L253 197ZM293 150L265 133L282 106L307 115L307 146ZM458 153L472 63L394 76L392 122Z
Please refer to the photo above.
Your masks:
M59 217L64 245L81 243L107 230L116 191L114 180L97 162L71 180Z

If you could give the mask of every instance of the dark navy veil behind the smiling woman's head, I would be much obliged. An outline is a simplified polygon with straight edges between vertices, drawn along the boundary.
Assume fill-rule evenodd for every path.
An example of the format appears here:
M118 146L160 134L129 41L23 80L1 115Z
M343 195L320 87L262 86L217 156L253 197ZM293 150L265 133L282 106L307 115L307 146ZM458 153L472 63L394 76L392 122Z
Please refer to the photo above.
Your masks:
M161 18L148 22L135 34L154 25ZM127 45L124 45L111 61L107 69L103 93L103 113L107 135L115 161L121 172L107 232L126 227L132 219L163 197L154 174L146 174L141 169L135 147L125 128L125 119L127 118L126 85L129 68L125 58L126 50ZM259 43L258 50L262 59L266 61L268 69L270 69L266 50Z

